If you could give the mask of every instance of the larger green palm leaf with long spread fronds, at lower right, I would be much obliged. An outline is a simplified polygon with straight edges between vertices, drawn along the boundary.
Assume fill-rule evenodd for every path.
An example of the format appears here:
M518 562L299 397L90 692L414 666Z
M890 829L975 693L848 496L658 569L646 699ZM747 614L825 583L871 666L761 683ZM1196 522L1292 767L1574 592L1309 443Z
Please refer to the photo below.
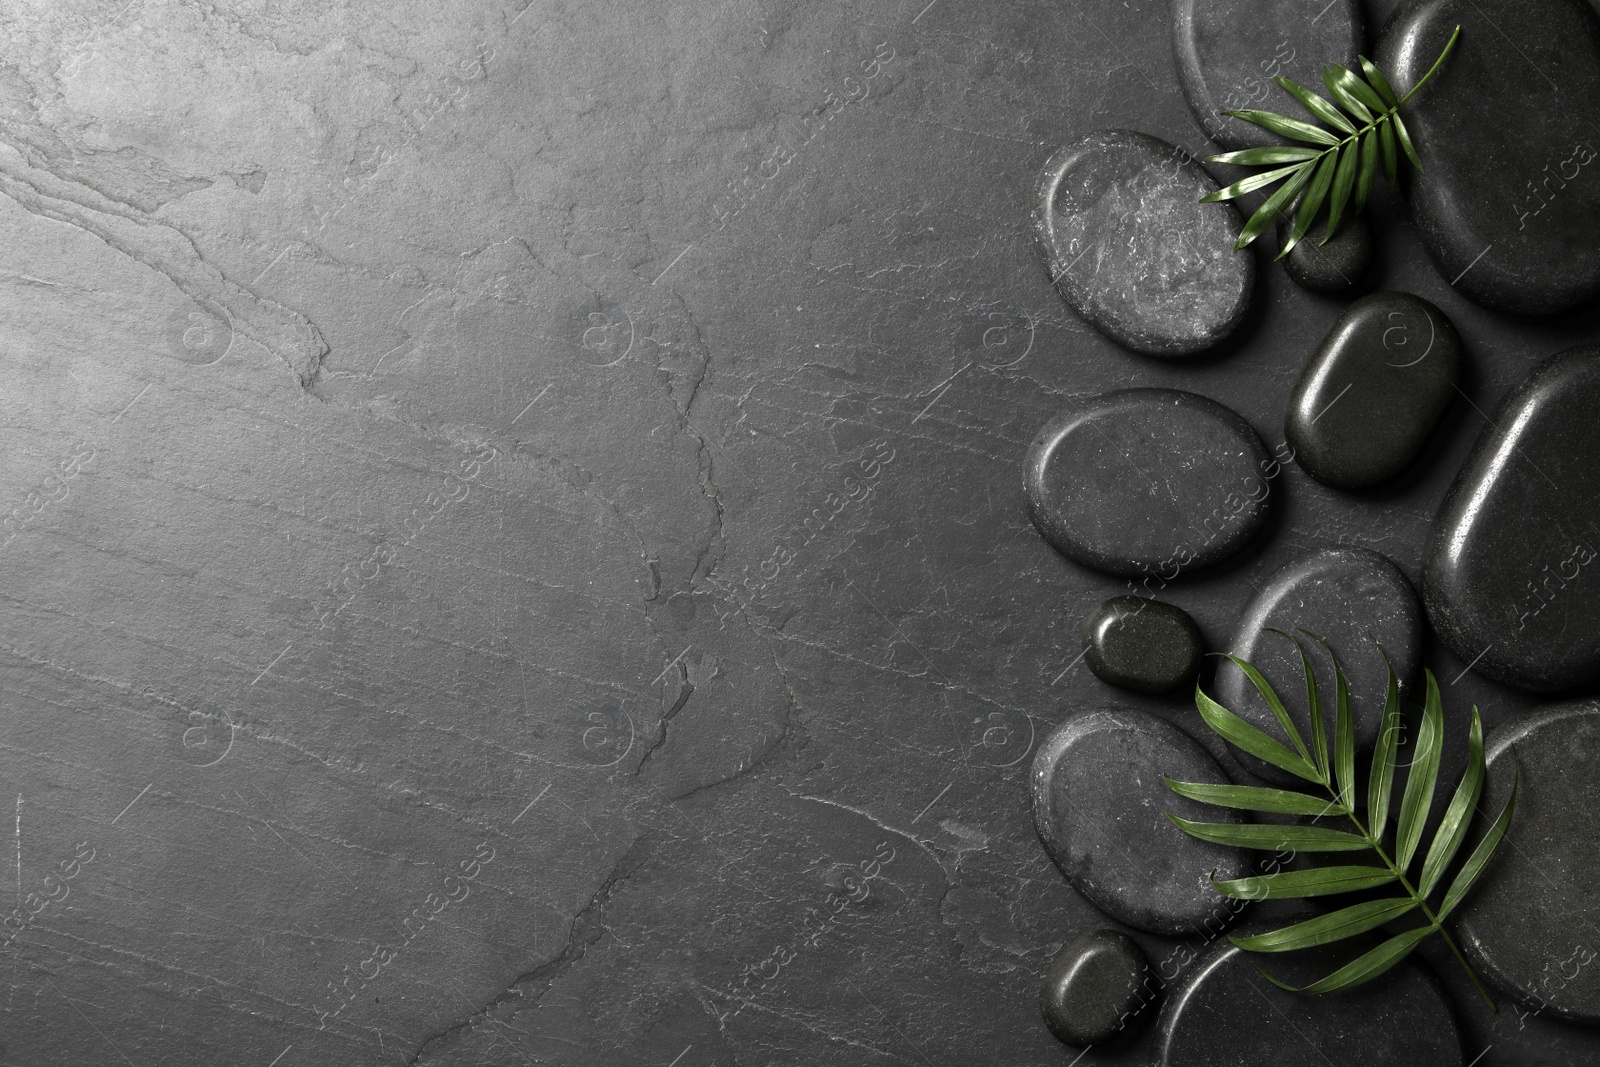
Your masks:
M1382 90L1374 88L1374 91L1387 99ZM1322 822L1314 825L1304 822L1198 822L1181 819L1170 813L1166 817L1186 833L1218 845L1277 851L1293 849L1294 853L1310 856L1317 853L1358 851L1376 857L1376 862L1310 865L1296 870L1278 870L1270 875L1213 881L1211 885L1218 894L1224 897L1240 901L1309 899L1384 888L1389 889L1389 894L1315 915L1283 929L1250 937L1234 937L1234 944L1250 952L1291 952L1365 934L1400 917L1418 912L1422 920L1421 926L1382 941L1357 960L1344 965L1322 981L1302 987L1299 992L1331 993L1360 985L1400 963L1426 937L1438 934L1450 945L1456 958L1461 960L1472 984L1493 1009L1494 1001L1482 982L1478 982L1466 957L1461 955L1450 931L1443 926L1445 918L1461 905L1472 891L1472 886L1477 885L1478 878L1488 869L1490 861L1506 838L1517 809L1517 782L1514 779L1506 806L1451 878L1450 870L1456 865L1458 856L1470 835L1472 816L1478 809L1488 777L1488 765L1483 755L1483 723L1477 709L1472 710L1472 725L1467 736L1467 766L1453 790L1438 829L1430 838L1424 840L1427 816L1437 795L1440 757L1445 744L1443 702L1438 693L1438 681L1432 672L1426 675L1427 696L1422 709L1422 725L1418 731L1416 747L1411 752L1411 765L1405 774L1403 795L1397 801L1394 798L1394 792L1398 787L1395 765L1403 718L1400 715L1400 683L1394 667L1389 667L1382 731L1373 750L1365 790L1366 809L1362 811L1355 806L1358 797L1355 721L1350 709L1349 680L1344 677L1339 657L1328 641L1315 633L1307 633L1307 637L1323 646L1328 661L1333 664L1334 721L1333 752L1330 753L1326 737L1323 736L1325 715L1322 710L1322 696L1310 659L1306 656L1306 648L1298 638L1278 633L1285 640L1294 641L1299 651L1307 710L1315 734L1310 744L1296 729L1294 718L1283 705L1272 683L1256 667L1242 659L1235 657L1234 662L1254 683L1272 710L1274 718L1288 736L1290 744L1293 744L1293 749L1222 707L1200 688L1195 688L1195 705L1200 709L1200 717L1218 736L1275 766L1293 771L1309 782L1309 787L1269 789L1261 785L1163 781L1174 793L1200 803L1280 816L1334 817L1347 822L1349 829L1334 829ZM1389 662L1387 656L1384 662ZM1390 811L1395 811L1395 841L1392 848L1386 846L1386 827ZM1443 891L1443 896L1435 902L1435 896L1440 891ZM1293 987L1285 985L1283 989Z

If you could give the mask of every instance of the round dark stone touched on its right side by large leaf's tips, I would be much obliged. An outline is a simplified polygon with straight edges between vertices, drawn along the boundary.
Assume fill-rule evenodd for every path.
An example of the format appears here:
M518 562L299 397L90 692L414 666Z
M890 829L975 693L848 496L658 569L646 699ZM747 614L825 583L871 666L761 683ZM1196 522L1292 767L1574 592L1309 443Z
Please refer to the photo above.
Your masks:
M1216 760L1171 723L1096 710L1056 726L1034 755L1034 825L1067 880L1110 918L1157 934L1218 928L1232 912L1210 873L1248 873L1246 854L1198 841L1166 819L1238 822L1238 814L1166 789L1226 782Z

